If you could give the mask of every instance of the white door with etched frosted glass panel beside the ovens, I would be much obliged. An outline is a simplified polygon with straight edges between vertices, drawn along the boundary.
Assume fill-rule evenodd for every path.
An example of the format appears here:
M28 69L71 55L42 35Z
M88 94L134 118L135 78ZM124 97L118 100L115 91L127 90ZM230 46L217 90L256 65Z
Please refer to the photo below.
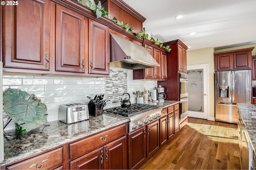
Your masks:
M208 64L188 65L188 117L209 117L208 67Z

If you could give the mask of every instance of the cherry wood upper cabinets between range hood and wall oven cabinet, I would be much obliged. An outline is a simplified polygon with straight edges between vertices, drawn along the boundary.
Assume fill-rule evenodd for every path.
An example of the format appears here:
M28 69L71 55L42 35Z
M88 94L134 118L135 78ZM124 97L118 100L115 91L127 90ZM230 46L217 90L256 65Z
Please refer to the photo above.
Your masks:
M144 47L160 67L133 70L133 79L167 80L166 53L147 44L144 44Z

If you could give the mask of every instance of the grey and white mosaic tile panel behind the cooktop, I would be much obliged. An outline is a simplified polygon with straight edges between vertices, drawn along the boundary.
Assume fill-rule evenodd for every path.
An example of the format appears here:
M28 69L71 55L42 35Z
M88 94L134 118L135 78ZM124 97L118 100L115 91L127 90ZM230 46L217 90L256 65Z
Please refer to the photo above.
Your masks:
M120 102L124 92L128 91L127 71L110 69L110 75L106 78L107 103Z

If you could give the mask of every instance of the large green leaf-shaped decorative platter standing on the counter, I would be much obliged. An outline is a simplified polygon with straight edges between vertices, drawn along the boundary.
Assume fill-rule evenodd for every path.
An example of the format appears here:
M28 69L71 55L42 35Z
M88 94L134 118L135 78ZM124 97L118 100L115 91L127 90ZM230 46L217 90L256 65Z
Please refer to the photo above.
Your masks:
M47 122L47 106L34 94L8 88L3 94L4 111L20 127L31 131Z

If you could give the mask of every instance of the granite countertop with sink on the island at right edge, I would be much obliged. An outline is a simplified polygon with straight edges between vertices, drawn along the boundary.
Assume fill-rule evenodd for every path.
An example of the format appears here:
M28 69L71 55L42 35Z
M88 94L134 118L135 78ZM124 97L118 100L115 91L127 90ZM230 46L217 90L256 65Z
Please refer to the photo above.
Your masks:
M254 152L256 150L256 117L251 116L248 110L256 110L256 104L237 104L238 109L242 115L242 119L244 120L244 125L248 135L250 137L250 143L252 143L252 147Z

